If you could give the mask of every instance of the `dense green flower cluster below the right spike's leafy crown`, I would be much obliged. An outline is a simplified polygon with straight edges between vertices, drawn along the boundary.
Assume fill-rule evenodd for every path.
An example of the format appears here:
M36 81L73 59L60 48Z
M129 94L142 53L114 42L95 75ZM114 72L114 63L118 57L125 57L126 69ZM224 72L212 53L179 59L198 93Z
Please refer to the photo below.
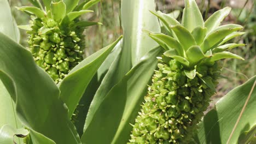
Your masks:
M197 75L189 79L181 63L162 59L133 125L131 143L186 143L214 93L201 78L217 84L217 63L198 65Z

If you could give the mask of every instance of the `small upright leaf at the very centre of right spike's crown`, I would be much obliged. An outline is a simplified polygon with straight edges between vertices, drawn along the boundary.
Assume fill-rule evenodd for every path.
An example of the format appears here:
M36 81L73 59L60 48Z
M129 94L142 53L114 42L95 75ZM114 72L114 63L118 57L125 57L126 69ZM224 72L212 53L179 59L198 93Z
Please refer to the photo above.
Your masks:
M202 44L203 39L205 39L206 32L207 32L207 28L205 28L205 27L202 28L201 26L196 27L195 29L193 29L191 34L193 35L197 45Z

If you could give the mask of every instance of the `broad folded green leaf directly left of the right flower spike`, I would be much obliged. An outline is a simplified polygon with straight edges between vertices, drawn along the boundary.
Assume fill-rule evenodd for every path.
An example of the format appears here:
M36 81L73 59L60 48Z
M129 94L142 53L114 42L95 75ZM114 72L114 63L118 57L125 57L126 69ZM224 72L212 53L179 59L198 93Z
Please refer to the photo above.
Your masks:
M157 64L156 56L161 54L160 50L159 47L151 50L110 90L106 97L108 101L104 100L98 108L96 116L82 136L82 142L126 143L128 141L132 129L129 123L134 121L141 107L139 104L146 94L147 84ZM112 105L113 101L118 103ZM104 120L97 117L104 115L107 117ZM104 124L101 127L96 126L102 123L102 120ZM96 134L102 135L101 139L96 140Z

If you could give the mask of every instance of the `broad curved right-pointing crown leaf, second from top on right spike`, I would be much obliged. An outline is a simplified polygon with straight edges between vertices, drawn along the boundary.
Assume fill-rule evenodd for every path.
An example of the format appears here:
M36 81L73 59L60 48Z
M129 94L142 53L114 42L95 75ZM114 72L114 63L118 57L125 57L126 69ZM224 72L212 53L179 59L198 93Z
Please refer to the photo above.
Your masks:
M200 45L202 51L206 52L213 49L213 47L221 43L227 35L242 28L243 27L240 25L229 24L214 29L211 33L206 35L205 40L203 40L203 43Z

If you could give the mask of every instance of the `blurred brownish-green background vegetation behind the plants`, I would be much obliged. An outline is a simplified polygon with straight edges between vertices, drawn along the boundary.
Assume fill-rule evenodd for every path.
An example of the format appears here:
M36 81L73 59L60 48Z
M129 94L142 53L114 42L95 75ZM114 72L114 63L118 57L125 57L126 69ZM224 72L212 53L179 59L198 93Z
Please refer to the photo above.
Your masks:
M135 0L134 0L135 1ZM140 1L140 0L136 0ZM13 15L18 25L26 25L30 21L30 17L25 13L17 10L15 7L22 5L31 5L28 0L9 0ZM178 21L181 21L182 9L184 2L181 0L156 0L156 9L164 13L171 13L179 10L180 15ZM207 19L215 11L231 7L231 14L226 17L224 23L237 23L245 28L246 34L240 38L232 39L233 43L245 43L246 46L232 49L231 51L245 58L245 61L237 59L228 59L223 61L223 77L219 80L217 94L212 97L211 106L218 101L224 94L232 88L241 85L256 72L256 0L198 0L199 8L204 19ZM121 30L120 21L120 0L101 0L90 13L82 17L82 19L90 21L98 21L103 25L92 26L85 30L86 49L85 56L91 55L108 45L111 41L118 38L123 32ZM132 10L132 9L131 9ZM27 46L27 34L21 30L21 45Z

